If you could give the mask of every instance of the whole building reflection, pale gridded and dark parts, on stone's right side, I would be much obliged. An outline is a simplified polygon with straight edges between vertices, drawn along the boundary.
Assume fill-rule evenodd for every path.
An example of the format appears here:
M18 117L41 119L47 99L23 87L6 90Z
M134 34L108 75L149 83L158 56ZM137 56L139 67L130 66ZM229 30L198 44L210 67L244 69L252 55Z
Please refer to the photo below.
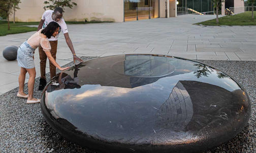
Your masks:
M234 124L246 119L247 96L198 81L179 81L156 113L155 126L162 129L197 131Z

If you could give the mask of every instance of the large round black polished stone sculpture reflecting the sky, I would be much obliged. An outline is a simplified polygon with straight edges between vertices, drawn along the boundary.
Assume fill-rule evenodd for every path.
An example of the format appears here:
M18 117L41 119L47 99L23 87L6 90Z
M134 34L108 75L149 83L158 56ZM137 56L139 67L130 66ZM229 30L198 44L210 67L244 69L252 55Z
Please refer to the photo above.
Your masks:
M251 104L244 89L197 61L117 55L62 71L42 113L63 137L103 152L199 152L235 137Z

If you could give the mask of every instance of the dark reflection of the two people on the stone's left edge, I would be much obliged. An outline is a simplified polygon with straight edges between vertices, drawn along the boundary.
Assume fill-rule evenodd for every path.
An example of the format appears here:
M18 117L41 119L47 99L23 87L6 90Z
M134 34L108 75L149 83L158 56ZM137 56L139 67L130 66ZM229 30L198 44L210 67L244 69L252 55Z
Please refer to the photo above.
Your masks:
M55 90L60 90L60 89L79 89L81 88L80 85L78 85L78 77L77 77L77 73L78 73L78 66L75 66L75 70L74 70L74 78L72 78L70 75L68 75L65 72L61 72L59 74L58 77L58 83L55 84L51 84L49 85L49 87L47 88L47 92L52 92Z

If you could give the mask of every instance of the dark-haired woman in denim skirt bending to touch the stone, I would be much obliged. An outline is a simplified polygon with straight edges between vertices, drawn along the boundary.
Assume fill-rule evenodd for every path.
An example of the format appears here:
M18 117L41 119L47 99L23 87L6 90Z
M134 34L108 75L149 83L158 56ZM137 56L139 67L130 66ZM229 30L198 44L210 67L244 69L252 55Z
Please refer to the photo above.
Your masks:
M56 36L58 34L60 26L56 22L50 22L47 27L37 31L35 34L29 37L18 49L17 61L20 66L19 74L19 92L18 97L27 98L26 103L39 103L40 99L33 97L36 69L34 63L34 52L37 47L41 46L45 51L49 61L52 62L59 70L64 70L69 67L60 67L54 58L51 56L50 50L51 46L48 39L51 36ZM48 38L48 39L47 39ZM24 81L26 72L29 74L28 79L28 95L24 93Z

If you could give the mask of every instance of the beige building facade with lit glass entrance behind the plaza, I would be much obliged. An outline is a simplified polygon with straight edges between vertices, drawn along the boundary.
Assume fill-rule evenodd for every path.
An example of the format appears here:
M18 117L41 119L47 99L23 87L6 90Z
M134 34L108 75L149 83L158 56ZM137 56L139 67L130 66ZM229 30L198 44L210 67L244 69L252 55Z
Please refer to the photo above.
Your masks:
M15 20L40 21L44 13L45 0L21 0ZM233 7L244 6L241 0L229 0ZM65 8L66 21L113 21L125 22L152 18L169 18L192 13L193 9L204 14L213 14L211 0L73 0L72 9ZM222 3L225 8L225 3ZM12 18L10 17L12 20Z

